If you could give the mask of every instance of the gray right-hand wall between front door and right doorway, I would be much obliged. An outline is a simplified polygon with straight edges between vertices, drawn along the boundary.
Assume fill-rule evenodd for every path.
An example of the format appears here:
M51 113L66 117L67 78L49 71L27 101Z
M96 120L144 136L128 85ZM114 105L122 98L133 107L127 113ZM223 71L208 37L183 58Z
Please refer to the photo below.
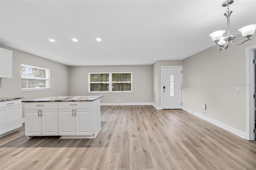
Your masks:
M244 38L238 35L235 40ZM202 113L205 103L205 116L245 132L245 48L252 45L255 42L248 41L222 51L210 47L182 60L183 107Z

